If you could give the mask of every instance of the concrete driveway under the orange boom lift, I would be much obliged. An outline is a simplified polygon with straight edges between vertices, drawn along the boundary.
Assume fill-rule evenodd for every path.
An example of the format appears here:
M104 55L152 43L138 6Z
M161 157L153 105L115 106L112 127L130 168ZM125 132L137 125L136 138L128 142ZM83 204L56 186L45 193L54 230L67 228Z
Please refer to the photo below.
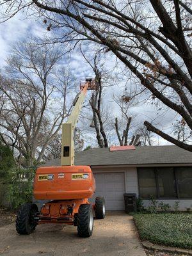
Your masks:
M104 220L94 221L92 237L77 237L69 225L39 225L29 236L20 236L15 223L0 228L0 254L10 256L146 256L132 217L108 212Z

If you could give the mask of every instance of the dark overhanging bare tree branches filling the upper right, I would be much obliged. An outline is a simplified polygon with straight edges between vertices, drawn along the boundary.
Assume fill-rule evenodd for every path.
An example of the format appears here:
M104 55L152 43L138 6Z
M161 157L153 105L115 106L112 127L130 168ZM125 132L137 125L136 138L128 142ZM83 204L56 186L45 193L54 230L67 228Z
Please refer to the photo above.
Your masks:
M180 0L1 1L8 18L24 8L63 29L53 42L102 45L131 70L141 86L192 129L191 2ZM46 23L46 22L45 22ZM49 23L49 22L48 22ZM48 26L50 29L50 25ZM62 30L61 30L62 31ZM148 131L192 151L147 120Z

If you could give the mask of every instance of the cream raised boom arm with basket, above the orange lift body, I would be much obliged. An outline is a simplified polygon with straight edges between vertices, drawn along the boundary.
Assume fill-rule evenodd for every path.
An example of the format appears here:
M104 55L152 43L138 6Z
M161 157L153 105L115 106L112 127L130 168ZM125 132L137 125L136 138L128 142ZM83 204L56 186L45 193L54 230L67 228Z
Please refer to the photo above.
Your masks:
M74 108L70 114L68 121L62 124L62 141L61 141L61 166L74 165L74 131L79 118L84 98L87 90L97 90L98 85L95 79L86 79L85 83L80 84L81 93L77 95Z

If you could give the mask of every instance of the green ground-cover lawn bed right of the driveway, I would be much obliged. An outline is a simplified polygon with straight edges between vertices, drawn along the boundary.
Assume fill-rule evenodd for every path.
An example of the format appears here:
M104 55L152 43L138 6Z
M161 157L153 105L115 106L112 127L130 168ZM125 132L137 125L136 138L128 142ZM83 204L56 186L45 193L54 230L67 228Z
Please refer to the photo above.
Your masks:
M133 215L142 240L180 248L192 248L192 214L158 213Z

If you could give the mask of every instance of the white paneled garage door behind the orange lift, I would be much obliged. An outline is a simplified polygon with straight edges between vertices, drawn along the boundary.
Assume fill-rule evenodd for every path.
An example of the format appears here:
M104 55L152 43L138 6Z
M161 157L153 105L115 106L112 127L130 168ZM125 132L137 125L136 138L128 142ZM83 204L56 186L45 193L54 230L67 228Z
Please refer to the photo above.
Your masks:
M125 175L123 172L93 173L96 182L96 196L104 196L106 210L124 210Z

